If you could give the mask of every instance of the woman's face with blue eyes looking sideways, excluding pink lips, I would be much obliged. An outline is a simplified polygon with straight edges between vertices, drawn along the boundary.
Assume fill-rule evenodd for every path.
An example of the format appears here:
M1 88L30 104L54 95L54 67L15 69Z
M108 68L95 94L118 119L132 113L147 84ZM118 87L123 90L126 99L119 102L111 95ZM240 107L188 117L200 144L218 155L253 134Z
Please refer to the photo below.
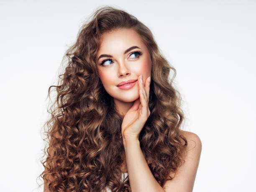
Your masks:
M96 63L101 82L115 102L133 102L139 97L138 81L125 90L117 87L118 84L137 80L141 74L145 84L151 76L150 54L141 36L133 29L103 33Z

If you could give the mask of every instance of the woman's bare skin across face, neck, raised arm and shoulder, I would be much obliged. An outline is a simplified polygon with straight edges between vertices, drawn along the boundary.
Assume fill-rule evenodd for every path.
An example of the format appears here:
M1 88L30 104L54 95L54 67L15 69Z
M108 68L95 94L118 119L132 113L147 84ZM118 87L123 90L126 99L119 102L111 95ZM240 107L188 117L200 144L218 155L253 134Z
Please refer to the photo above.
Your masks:
M138 46L140 49L123 54L131 46ZM133 51L138 50L142 52L140 57L137 58L136 54L131 55ZM195 133L182 131L188 141L187 155L183 156L185 163L177 169L175 177L174 174L169 174L174 179L167 181L163 187L154 178L141 151L138 136L150 115L148 77L151 74L150 54L141 37L131 29L118 29L105 33L102 35L97 58L101 54L113 56L112 61L105 62L108 65L105 67L100 66L100 63L107 57L100 58L97 61L97 69L105 90L113 97L118 112L124 115L122 135L125 148L125 172L128 170L132 191L192 192L202 150L201 140ZM140 75L143 79L141 83ZM120 90L116 87L117 84L128 79L138 79L133 88ZM45 187L44 192L48 191Z

